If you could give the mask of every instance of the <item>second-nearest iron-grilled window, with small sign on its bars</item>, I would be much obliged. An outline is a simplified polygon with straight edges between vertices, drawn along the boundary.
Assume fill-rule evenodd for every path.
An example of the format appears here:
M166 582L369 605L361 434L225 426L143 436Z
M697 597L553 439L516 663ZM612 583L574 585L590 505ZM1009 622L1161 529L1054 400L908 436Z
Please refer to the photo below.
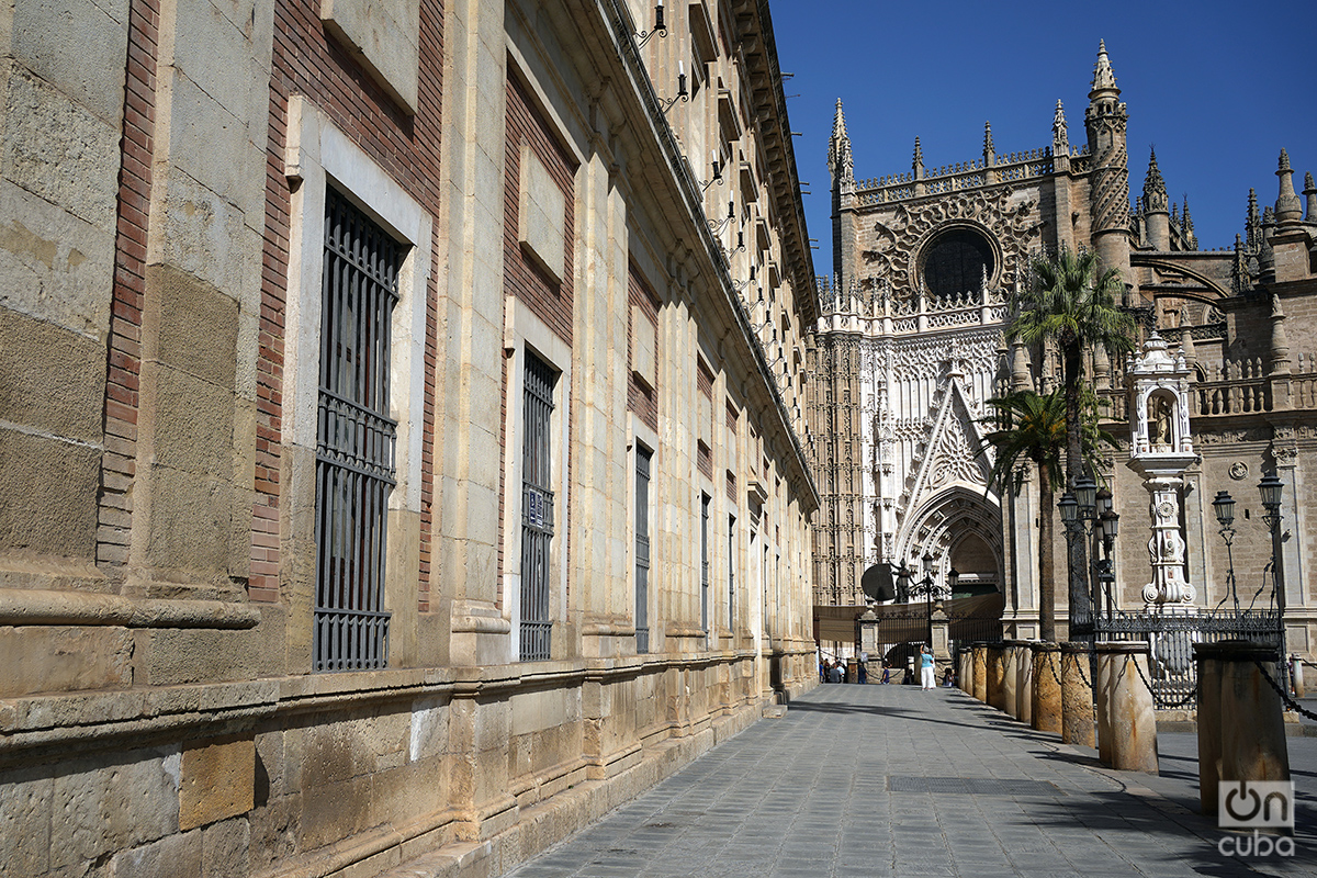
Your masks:
M549 548L553 542L553 386L557 373L525 351L522 437L523 661L549 657Z

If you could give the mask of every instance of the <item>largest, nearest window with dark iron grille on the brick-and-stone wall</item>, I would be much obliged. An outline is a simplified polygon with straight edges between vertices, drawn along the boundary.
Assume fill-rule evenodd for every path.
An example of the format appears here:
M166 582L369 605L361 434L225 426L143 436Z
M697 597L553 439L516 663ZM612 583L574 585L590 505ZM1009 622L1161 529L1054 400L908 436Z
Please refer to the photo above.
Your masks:
M403 245L325 194L316 425L317 671L385 667L385 527L398 423L389 417L389 325Z

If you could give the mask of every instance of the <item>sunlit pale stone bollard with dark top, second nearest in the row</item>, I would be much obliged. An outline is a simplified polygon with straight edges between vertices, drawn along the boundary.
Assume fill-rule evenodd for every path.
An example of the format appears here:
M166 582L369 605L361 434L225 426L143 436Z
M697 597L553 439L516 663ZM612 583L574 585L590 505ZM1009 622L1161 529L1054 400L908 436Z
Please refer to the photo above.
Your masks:
M1158 774L1156 708L1148 688L1146 641L1100 642L1097 650L1098 758L1121 771Z

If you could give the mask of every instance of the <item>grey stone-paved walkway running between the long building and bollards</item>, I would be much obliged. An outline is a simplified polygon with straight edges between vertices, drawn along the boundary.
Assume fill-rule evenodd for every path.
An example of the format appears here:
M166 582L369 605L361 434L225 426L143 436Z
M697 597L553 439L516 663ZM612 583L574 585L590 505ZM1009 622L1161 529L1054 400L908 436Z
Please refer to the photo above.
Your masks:
M508 874L1317 875L1317 738L1288 741L1295 856L1243 860L1196 813L1193 735L1162 736L1151 778L959 690L820 686Z

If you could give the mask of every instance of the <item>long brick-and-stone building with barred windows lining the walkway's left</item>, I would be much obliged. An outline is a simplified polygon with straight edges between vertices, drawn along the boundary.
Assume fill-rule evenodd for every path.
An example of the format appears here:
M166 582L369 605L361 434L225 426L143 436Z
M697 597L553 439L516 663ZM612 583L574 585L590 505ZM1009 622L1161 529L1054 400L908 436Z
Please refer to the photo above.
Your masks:
M766 3L0 14L7 871L494 875L814 683Z

